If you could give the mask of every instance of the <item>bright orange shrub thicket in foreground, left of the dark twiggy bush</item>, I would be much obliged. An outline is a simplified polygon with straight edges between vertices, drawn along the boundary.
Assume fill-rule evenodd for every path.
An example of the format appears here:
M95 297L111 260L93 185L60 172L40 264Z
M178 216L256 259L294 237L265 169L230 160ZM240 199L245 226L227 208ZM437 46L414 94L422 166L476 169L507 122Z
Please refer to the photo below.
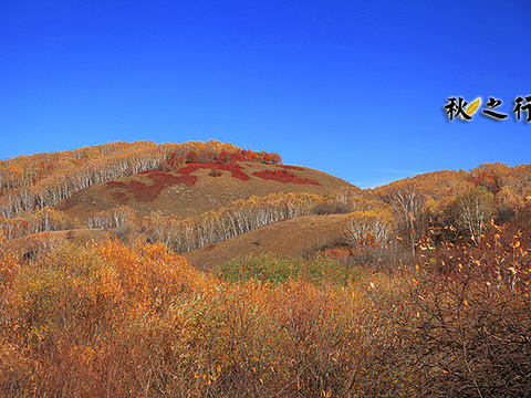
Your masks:
M373 323L358 294L232 285L163 245L66 245L22 266L7 294L8 395L344 396L376 342L356 332Z

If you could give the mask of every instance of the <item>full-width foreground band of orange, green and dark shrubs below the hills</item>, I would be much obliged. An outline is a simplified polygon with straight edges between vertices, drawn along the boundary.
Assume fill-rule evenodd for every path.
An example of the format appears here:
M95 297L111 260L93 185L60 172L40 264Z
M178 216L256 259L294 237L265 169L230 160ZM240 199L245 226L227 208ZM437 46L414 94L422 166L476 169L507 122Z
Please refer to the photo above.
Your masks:
M64 244L19 262L1 240L0 394L529 396L523 227L482 248L423 241L413 269L251 256L231 281L162 244Z

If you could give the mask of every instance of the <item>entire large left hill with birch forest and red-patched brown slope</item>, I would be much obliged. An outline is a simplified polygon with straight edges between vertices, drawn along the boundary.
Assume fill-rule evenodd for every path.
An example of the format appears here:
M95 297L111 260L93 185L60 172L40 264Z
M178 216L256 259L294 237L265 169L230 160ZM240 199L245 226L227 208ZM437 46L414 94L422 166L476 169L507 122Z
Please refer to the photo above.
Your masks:
M157 211L201 216L287 190L284 184L293 185L289 191L320 195L346 184L280 161L278 154L218 142L115 143L8 159L0 163L0 226L8 239L123 227Z

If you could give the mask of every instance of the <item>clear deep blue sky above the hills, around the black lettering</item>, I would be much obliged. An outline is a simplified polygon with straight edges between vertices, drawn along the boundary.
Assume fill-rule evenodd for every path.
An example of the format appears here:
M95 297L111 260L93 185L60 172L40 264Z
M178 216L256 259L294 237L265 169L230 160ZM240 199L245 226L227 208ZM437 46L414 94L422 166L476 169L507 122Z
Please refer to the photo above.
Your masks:
M531 163L530 28L527 0L0 0L0 159L214 138L361 187Z

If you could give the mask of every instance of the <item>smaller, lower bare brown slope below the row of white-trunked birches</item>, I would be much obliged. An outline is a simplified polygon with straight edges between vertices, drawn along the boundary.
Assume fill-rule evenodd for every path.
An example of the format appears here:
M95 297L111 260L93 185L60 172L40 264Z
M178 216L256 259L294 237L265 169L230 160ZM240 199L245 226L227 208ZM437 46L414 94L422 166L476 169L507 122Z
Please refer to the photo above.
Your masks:
M200 270L214 270L247 254L306 255L341 239L347 218L348 214L330 214L285 220L194 250L185 256Z

